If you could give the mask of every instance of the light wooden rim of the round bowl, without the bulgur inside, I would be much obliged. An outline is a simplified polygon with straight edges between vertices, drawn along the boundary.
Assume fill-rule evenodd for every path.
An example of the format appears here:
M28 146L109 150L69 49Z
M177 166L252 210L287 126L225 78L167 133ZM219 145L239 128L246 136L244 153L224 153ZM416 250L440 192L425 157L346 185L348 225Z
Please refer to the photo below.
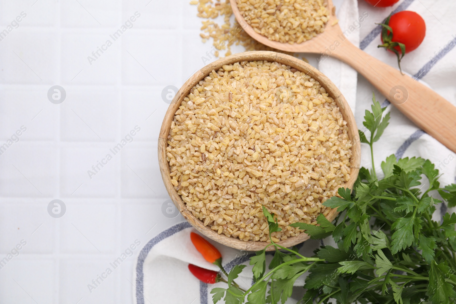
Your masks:
M290 67L294 67L295 69L308 73L311 77L316 79L320 82L321 86L326 89L326 93L329 93L334 101L336 101L337 106L340 108L340 112L342 113L343 119L347 121L348 127L348 136L352 140L352 158L350 160L350 165L352 168L352 172L350 174L350 180L345 183L345 187L352 188L359 171L360 165L360 139L358 134L358 128L356 126L355 118L353 117L352 110L347 104L347 101L342 96L342 93L337 89L334 83L328 79L325 75L319 72L315 67L312 67L308 63L299 60L295 57L285 55L282 53L277 52L265 52L265 51L255 51L255 52L244 52L242 54L234 54L225 58L221 58L211 64L203 67L201 70L196 72L192 77L190 77L187 82L184 83L182 88L176 93L176 96L172 100L168 111L166 112L165 118L163 119L163 123L161 125L160 136L158 139L158 161L160 164L160 171L163 181L166 186L166 190L168 191L171 200L174 202L176 207L181 212L182 216L184 216L193 227L195 227L199 232L204 234L206 237L211 238L214 241L217 241L223 245L233 247L240 250L249 250L249 251L257 251L263 249L268 243L267 242L260 242L260 241L248 241L244 242L238 238L234 237L227 237L223 234L218 234L216 231L211 230L210 227L204 226L203 222L192 215L192 212L187 210L185 202L182 200L181 196L177 194L176 189L171 184L171 177L170 177L170 166L169 162L166 160L166 146L167 146L167 138L170 132L171 121L174 119L174 114L176 110L181 105L182 100L190 93L190 90L204 77L209 75L212 70L217 71L223 65L232 64L235 62L241 61L258 61L258 60L266 60L269 62L279 62L285 64ZM336 209L332 209L326 218L330 221L334 220L337 216ZM301 242L306 241L309 239L309 236L306 233L299 234L295 237L289 237L286 240L280 241L279 244L284 247L294 246ZM274 250L273 246L268 247L270 250Z

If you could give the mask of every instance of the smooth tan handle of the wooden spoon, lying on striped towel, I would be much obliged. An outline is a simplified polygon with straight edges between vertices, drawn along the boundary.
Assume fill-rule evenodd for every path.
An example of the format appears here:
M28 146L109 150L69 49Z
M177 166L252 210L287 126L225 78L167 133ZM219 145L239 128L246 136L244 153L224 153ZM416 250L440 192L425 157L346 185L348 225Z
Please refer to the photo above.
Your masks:
M352 66L418 127L456 152L456 107L445 98L347 39L330 56Z

